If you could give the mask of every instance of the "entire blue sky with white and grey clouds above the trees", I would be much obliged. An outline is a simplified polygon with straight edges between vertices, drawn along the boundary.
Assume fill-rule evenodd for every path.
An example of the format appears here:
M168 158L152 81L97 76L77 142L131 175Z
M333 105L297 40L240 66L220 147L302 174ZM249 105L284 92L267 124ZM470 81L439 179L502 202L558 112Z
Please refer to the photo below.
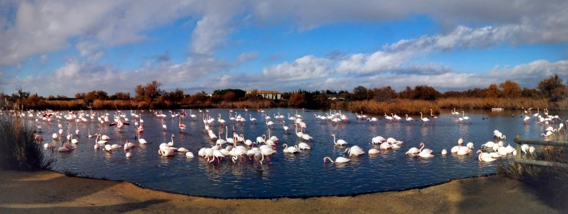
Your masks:
M568 1L0 0L0 92L568 80Z

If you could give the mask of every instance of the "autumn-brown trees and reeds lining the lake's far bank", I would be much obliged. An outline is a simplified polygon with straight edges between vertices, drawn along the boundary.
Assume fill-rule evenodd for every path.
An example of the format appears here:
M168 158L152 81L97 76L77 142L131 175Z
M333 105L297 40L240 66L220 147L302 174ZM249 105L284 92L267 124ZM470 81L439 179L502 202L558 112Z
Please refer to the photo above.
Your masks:
M395 91L390 86L366 88L357 86L349 91L305 91L299 89L281 94L281 100L259 96L259 91L247 93L241 89L227 88L212 94L204 91L192 95L180 88L164 91L161 83L151 81L134 88L136 95L106 91L76 93L74 98L48 96L47 98L25 92L21 86L16 93L0 93L0 107L17 104L24 109L156 109L156 108L348 108L366 113L427 113L440 108L549 108L568 109L568 83L557 75L539 82L537 88L521 88L514 81L491 84L487 88L440 93L431 86L407 87Z

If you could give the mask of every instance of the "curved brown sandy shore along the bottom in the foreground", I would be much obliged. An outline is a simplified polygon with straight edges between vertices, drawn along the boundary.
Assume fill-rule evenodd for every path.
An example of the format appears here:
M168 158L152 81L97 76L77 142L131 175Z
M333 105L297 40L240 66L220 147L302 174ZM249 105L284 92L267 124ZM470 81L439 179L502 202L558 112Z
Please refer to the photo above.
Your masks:
M490 176L356 197L221 200L51 171L0 171L0 213L566 213L516 180Z

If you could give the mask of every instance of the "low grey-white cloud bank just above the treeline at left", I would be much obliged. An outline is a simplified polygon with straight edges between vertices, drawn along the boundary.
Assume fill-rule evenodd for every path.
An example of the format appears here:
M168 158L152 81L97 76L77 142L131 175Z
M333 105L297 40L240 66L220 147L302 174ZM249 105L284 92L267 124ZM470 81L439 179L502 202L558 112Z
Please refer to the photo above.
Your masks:
M227 61L215 58L189 58L184 63L146 66L134 71L120 71L112 66L99 66L88 61L71 58L53 73L10 78L9 83L0 81L0 90L10 90L13 86L24 86L25 91L38 93L40 96L74 96L77 92L94 90L114 94L118 91L132 92L139 84L159 81L166 91L175 88L191 88L211 75L233 66ZM3 78L4 79L4 78Z

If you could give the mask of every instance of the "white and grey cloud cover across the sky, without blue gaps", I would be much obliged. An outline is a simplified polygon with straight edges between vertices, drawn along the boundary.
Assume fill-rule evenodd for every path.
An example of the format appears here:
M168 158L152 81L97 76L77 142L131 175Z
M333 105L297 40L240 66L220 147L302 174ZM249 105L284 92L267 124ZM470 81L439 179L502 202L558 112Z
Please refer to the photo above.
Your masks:
M39 54L42 61L52 51L73 46L81 60L73 58L39 77L2 74L3 88L16 83L35 91L131 91L134 85L158 80L164 88L213 88L245 86L286 90L351 90L360 84L395 87L428 84L436 88L485 87L504 79L534 87L535 81L559 73L567 78L566 61L496 67L487 74L456 73L440 63L417 63L414 58L432 52L472 49L500 44L565 42L568 37L568 1L1 1L0 66L20 66L23 59ZM7 15L4 15L7 14ZM289 24L307 31L326 24L402 20L428 16L442 23L446 33L421 36L387 44L373 53L345 54L339 58L306 55L294 61L266 66L258 75L230 73L229 68L257 58L246 52L234 63L212 57L227 44L231 34L246 24ZM191 56L183 63L164 61L119 71L94 63L112 46L144 41L145 34L182 17L196 20L191 32ZM471 28L460 25L491 26ZM269 59L279 58L276 54ZM226 71L217 76L219 71ZM1 74L1 73L0 73ZM9 79L6 81L6 79ZM11 81L14 80L14 81ZM387 81L388 80L388 81ZM448 81L452 80L452 81ZM309 84L308 84L309 83ZM533 85L531 85L533 84ZM49 86L49 90L39 86ZM101 87L101 88L97 88ZM319 88L321 87L321 88ZM216 89L216 88L213 88Z

